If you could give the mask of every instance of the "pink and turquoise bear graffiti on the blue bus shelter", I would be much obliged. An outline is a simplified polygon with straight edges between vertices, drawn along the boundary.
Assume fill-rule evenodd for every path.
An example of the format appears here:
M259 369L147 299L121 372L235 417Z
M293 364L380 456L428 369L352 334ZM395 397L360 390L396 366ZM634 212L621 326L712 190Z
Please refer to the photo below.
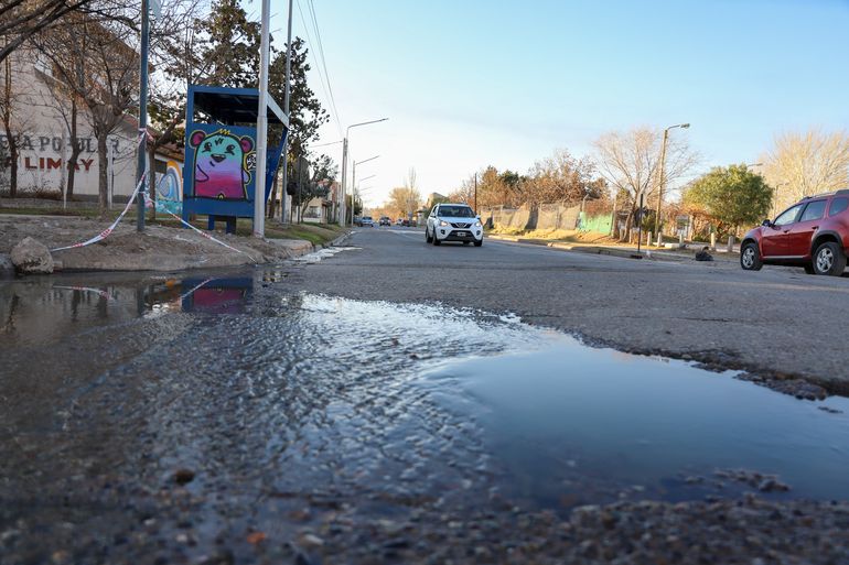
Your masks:
M250 182L249 164L254 140L234 135L228 130L206 134L195 131L189 138L194 152L194 196L245 200Z

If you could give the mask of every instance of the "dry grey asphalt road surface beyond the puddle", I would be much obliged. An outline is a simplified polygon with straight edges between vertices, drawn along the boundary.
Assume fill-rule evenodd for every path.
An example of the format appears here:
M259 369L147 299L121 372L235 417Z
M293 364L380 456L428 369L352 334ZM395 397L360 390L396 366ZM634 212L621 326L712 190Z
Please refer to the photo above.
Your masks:
M301 271L304 287L351 298L439 302L566 330L585 343L694 359L849 391L849 279L802 269L634 260L423 231L358 229L356 247Z

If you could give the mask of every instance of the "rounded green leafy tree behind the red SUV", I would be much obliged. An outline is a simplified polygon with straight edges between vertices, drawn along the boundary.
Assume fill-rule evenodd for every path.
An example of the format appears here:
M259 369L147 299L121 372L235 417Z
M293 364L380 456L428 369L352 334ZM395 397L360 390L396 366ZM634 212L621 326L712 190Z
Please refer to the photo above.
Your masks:
M720 232L737 233L740 226L757 224L772 204L772 188L744 164L712 169L683 196L685 206L703 210Z

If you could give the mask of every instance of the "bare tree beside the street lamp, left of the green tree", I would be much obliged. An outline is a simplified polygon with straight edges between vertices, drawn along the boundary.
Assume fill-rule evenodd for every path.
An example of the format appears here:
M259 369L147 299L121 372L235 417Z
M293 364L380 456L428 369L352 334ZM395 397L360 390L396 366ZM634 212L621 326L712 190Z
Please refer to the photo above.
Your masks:
M625 196L623 209L628 210L626 237L637 210L640 197L649 204L657 195L663 131L635 128L627 132L612 131L595 140L599 170L619 194ZM665 187L684 176L698 162L683 135L670 137L666 144ZM667 193L668 194L668 193ZM620 200L621 202L621 200Z

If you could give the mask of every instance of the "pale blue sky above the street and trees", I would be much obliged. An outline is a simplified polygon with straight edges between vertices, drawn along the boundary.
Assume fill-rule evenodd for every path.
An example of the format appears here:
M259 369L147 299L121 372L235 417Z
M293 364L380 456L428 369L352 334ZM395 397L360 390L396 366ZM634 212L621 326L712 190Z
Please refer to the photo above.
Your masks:
M271 2L278 45L287 4ZM337 110L315 144L389 118L351 130L350 164L379 155L357 167L375 175L366 206L410 167L422 195L447 194L641 126L691 123L671 134L701 155L694 174L757 162L782 132L849 130L849 0L294 0L293 34ZM314 151L342 161L341 143Z

